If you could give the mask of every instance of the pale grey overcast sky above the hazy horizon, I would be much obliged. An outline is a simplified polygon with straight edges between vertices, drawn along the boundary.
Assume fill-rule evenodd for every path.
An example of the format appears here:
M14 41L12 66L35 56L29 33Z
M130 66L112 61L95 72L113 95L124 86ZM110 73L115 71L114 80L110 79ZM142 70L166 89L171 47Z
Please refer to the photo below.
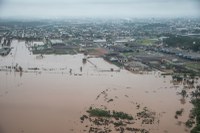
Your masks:
M200 0L0 0L0 17L200 17Z

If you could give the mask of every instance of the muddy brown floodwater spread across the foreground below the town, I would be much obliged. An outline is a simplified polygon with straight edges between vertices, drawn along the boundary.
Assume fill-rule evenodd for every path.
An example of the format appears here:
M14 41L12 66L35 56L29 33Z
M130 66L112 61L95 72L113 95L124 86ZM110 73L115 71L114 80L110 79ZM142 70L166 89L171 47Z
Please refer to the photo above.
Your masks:
M151 133L189 132L184 122L192 105L189 98L181 103L177 92L183 86L173 85L170 76L119 71L101 58L89 58L83 64L82 54L37 58L24 42L13 41L12 47L11 55L0 57L0 133L84 132L88 129L80 117L90 106L105 106L134 117L140 110L137 105L156 112L157 122L142 125L136 121L133 127L146 128ZM16 63L23 73L6 67ZM106 96L99 95L103 91ZM175 119L175 112L181 108L182 116Z

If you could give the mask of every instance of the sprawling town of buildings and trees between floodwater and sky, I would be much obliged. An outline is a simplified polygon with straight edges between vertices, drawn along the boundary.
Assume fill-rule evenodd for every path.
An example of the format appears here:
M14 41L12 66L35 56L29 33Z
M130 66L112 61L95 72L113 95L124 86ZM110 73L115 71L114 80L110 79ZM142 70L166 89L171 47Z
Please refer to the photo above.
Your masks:
M33 53L102 57L132 72L200 73L200 20L69 19L0 22L0 55L12 40Z

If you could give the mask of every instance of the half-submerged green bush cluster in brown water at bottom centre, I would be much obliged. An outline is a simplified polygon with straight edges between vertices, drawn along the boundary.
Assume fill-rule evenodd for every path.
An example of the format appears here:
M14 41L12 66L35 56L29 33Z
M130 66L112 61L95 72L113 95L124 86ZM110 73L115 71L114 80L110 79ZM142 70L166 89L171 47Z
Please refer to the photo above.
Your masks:
M87 124L85 127L88 129L84 129L84 132L124 133L126 131L131 131L135 133L149 133L149 131L144 128L132 127L135 123L133 116L127 113L94 107L90 107L86 112L88 115L80 117L81 123Z

